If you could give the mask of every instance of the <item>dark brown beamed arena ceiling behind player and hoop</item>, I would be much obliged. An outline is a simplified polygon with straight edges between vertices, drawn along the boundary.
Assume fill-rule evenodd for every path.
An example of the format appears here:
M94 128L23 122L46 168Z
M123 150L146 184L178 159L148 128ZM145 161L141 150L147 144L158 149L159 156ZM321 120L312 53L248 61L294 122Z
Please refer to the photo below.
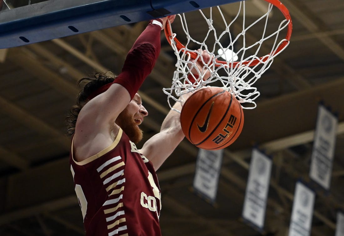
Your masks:
M261 1L251 2L256 11ZM311 235L334 235L337 209L344 209L344 1L282 3L293 20L291 42L256 82L261 92L257 108L244 110L243 132L224 151L216 203L209 204L192 190L197 149L187 140L158 170L164 236L287 235L295 182L310 181L320 101L338 113L339 122L331 189L315 188ZM197 28L197 21L193 23ZM0 235L84 235L64 118L76 101L76 81L95 70L119 73L146 25L0 50ZM173 27L180 31L179 24ZM204 28L197 29L204 35ZM161 89L170 86L174 64L173 51L162 36L161 55L140 89L149 116L141 125L145 138L138 146L159 131L169 110ZM273 160L262 232L241 218L254 145Z

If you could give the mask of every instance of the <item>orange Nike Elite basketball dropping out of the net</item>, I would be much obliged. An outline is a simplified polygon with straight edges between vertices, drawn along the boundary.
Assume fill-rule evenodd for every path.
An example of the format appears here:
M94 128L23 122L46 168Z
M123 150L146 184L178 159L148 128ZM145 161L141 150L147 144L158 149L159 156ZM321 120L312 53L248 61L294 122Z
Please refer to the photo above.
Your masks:
M244 113L238 100L219 87L201 88L185 101L180 122L185 137L199 148L223 149L240 135Z

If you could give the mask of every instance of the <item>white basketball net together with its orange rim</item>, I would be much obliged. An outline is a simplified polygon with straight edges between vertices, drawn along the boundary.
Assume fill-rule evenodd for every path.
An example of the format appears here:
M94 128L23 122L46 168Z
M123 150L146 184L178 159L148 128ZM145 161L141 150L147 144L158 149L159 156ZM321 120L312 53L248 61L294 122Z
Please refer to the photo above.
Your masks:
M224 90L229 91L232 95L235 95L243 108L253 109L257 106L255 99L260 93L253 85L269 69L273 59L289 45L292 29L288 9L278 0L265 1L269 2L266 13L258 19L256 19L256 16L253 20L252 17L246 16L245 1L239 3L238 13L233 15L229 21L225 19L229 18L228 15L221 10L223 6L198 10L206 22L205 27L208 27L204 39L197 38L196 40L199 34L192 37L191 28L189 30L187 25L187 13L178 14L184 36L186 36L185 45L181 44L176 38L177 35L172 32L171 24L166 25L166 38L177 57L172 86L163 88L164 93L168 95L168 103L171 108L173 106L171 101L182 104L185 102L181 97L182 94L191 93L208 86L222 87ZM278 8L282 12L284 17L277 30L275 26L271 31L268 22L274 6L275 9ZM199 24L198 27L201 27L201 23ZM222 29L216 30L215 25L216 27L223 26ZM281 33L283 29L287 32L286 36L281 36L284 35ZM234 31L236 34L233 33ZM253 31L255 31L254 34ZM257 33L259 33L258 38ZM252 41L251 35L256 35L256 41ZM181 38L180 35L178 36ZM197 49L206 50L213 57L213 60L205 63ZM218 54L218 50L220 54ZM259 56L259 53L262 56ZM221 61L221 56L225 58L224 61ZM203 65L202 70L197 68L197 61ZM196 76L191 75L192 79L188 79L188 75L191 74L190 71L193 68L196 69L198 74ZM206 70L211 71L211 76L205 80L203 75ZM180 112L179 110L176 111Z

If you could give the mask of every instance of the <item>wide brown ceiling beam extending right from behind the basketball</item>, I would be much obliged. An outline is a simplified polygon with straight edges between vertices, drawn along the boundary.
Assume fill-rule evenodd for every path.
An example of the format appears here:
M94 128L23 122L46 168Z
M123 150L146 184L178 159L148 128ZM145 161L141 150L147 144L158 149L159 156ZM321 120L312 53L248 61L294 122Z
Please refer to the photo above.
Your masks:
M257 103L255 109L244 111L243 130L229 149L249 148L313 130L321 101L333 112L344 110L341 94L344 78ZM339 114L338 121L344 121L344 114Z

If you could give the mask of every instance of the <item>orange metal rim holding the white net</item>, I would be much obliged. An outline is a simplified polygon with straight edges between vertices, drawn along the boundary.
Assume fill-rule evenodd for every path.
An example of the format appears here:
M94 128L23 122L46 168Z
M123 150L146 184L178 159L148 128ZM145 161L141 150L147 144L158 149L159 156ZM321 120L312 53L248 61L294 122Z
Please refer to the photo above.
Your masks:
M275 51L273 51L270 54L268 54L268 55L271 55L271 54L275 55L278 52L280 52L281 50L283 50L288 45L290 37L291 37L292 28L293 28L292 21L291 21L291 17L290 17L288 9L279 0L264 0L264 1L267 1L267 2L271 3L272 5L274 5L275 7L277 7L282 12L284 17L286 17L286 19L289 21L288 31L287 31L287 35L286 35L286 38L285 38L286 41L282 42ZM172 29L171 29L171 24L168 21L166 22L165 36L166 36L166 39L168 40L168 42L171 44ZM185 46L176 37L174 38L174 44L176 45L178 50L181 50L182 48L185 48ZM187 50L187 52L190 53L191 58L193 58L193 59L197 58L197 53L196 52L189 51L189 50ZM229 64L231 66L233 65L233 67L235 67L238 63L249 64L249 66L256 66L257 64L266 61L267 58L268 58L266 56L267 55L265 55L263 57L260 57L259 59L254 59L252 61L244 61L244 62L235 61L235 62L230 62ZM227 61L216 61L216 62L220 63L220 64L227 64L228 63ZM215 64L215 66L219 66L219 65Z

